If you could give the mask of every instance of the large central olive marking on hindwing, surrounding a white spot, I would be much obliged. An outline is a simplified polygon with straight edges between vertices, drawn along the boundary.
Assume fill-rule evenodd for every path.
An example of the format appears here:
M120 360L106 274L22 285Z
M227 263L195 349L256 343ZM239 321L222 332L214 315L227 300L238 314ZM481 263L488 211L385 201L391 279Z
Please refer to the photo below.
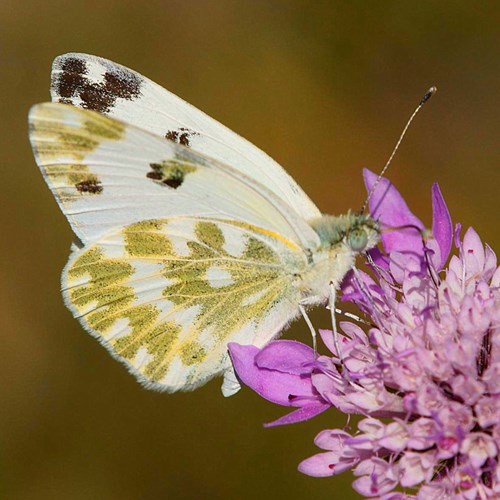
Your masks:
M189 255L165 259L164 276L173 283L164 288L163 296L180 308L198 307L190 338L210 329L223 341L250 321L262 320L286 295L289 283L279 257L262 240L247 236L243 255L235 257L224 250L224 234L216 223L197 222L195 234L198 241L188 242ZM214 267L228 273L230 283L215 288L207 277Z

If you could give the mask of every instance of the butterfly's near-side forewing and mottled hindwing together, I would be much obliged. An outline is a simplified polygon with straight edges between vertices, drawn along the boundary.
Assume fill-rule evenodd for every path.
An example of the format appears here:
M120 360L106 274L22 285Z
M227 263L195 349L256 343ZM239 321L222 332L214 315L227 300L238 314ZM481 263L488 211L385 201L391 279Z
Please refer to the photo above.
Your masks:
M241 172L74 106L30 112L37 162L81 240L62 278L82 325L147 386L193 389L298 312L316 233Z

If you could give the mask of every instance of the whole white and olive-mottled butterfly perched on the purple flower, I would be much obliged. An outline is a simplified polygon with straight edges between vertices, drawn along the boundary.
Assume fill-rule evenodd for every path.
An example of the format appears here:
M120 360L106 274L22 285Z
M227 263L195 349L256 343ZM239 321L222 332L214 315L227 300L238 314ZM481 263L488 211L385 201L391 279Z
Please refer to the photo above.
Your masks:
M379 240L369 215L322 214L269 156L130 69L59 56L51 96L30 139L76 236L63 298L148 388L224 374L236 392L228 342L261 347L334 300Z

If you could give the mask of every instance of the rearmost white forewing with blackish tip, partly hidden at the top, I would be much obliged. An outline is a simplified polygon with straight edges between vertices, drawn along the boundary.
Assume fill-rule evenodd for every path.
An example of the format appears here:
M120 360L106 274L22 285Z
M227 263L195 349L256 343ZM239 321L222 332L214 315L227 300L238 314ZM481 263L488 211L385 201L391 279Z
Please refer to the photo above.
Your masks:
M285 170L247 140L151 80L86 54L64 54L52 69L52 100L98 111L231 165L294 208L321 215Z

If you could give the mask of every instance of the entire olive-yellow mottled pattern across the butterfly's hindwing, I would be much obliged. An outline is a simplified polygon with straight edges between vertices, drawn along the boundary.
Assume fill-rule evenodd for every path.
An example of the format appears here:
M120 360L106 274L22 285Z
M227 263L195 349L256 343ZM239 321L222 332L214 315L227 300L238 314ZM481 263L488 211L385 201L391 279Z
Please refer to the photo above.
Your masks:
M140 371L152 382L162 379L176 356L186 367L202 364L211 351L201 338L212 337L220 346L251 322L258 325L290 291L292 277L266 241L270 236L259 228L235 221L186 221L186 234L194 233L191 237L179 236L178 229L170 235L169 219L131 224L121 232L123 258L106 256L96 246L68 271L70 286L71 281L88 277L70 291L78 310L93 309L85 314L88 325L130 362L145 347L148 356ZM226 233L221 229L224 224ZM225 234L243 238L241 254L226 250ZM187 240L186 254L176 251L175 238ZM156 296L150 293L147 302L133 285L148 279L150 289L154 267L147 267L143 276L138 270L141 261L156 264L158 282L166 283ZM220 282L214 283L219 275ZM171 309L162 310L162 300ZM194 315L191 323L179 324L176 315L188 310ZM109 330L118 320L126 320L128 329L113 336Z

